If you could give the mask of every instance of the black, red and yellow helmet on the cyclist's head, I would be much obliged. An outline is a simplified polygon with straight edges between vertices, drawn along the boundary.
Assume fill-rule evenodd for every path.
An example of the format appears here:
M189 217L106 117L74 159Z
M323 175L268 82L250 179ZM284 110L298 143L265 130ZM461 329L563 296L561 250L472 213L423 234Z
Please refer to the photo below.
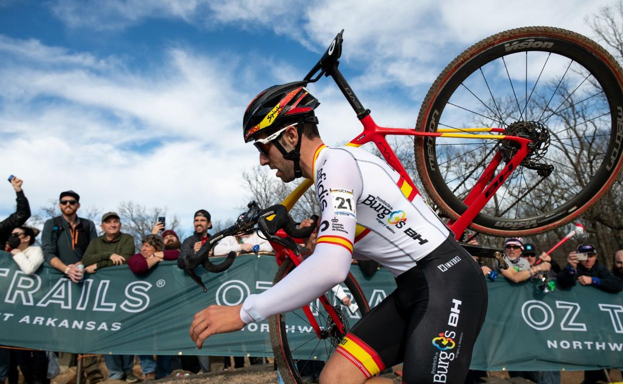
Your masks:
M302 123L318 124L313 110L320 105L320 101L309 93L305 85L305 81L274 85L255 96L242 119L244 142L249 143L260 132L273 133L284 119L299 118L299 129Z

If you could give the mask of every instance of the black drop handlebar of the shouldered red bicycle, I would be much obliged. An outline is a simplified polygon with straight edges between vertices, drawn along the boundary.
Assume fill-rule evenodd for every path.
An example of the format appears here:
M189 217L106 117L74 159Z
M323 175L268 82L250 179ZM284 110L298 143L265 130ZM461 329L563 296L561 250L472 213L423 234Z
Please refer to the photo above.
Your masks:
M278 230L283 229L288 236L294 238L306 238L309 237L316 229L317 215L313 215L311 218L313 224L306 228L296 228L296 224L292 217L288 215L287 209L281 205L272 205L272 207L262 210L256 202L252 201L247 204L249 210L240 215L238 220L229 228L215 233L209 238L202 246L193 253L192 250L183 249L179 254L178 267L184 269L186 273L199 284L204 293L207 292L206 286L203 284L201 277L194 273L194 269L197 266L202 265L207 271L213 273L221 273L226 271L233 263L236 257L236 253L231 251L227 258L221 263L214 264L209 260L210 251L212 247L216 245L218 241L226 236L245 235L254 231L255 224L259 224L259 228L265 236L274 235Z

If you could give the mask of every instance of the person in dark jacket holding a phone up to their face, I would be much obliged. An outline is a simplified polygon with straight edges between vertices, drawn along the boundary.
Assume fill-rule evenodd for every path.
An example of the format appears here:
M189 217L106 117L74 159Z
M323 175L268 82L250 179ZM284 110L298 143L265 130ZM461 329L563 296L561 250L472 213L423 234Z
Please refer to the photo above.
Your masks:
M606 292L623 291L623 283L606 267L599 265L594 245L581 244L567 256L567 265L558 273L558 285L569 288L576 285L594 286Z

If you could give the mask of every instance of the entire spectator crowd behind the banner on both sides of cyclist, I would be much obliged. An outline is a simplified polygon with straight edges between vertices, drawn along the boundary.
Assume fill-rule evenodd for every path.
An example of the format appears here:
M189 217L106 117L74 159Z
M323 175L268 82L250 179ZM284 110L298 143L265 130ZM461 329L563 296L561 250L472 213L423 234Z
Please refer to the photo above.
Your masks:
M85 274L97 273L99 269L110 266L127 265L136 275L148 273L157 268L161 261L177 260L181 250L195 253L210 238L208 230L212 228L211 215L205 209L194 213L194 233L183 241L172 229L166 229L163 222L156 222L151 233L141 239L140 250L135 249L135 239L123 232L121 217L115 212L102 215L99 227L102 235L98 236L96 224L87 218L78 216L80 195L73 190L61 192L59 195L60 215L45 221L40 238L37 228L24 225L31 216L29 202L22 190L22 180L13 177L11 185L16 192L16 212L0 222L0 241L4 250L9 252L21 271L34 274L44 264L60 271L74 283L79 283ZM471 240L469 243L477 244ZM605 268L597 261L598 246L588 243L581 244L566 256L566 265L559 266L543 250L539 253L535 244L524 243L523 238L508 238L504 243L505 261L510 268L502 269L495 265L481 263L485 278L495 280L502 274L512 283L520 283L530 279L549 281L555 279L560 288L572 288L577 284L592 286L595 289L619 293L623 290L623 250L613 255L613 267ZM270 252L270 243L264 238L251 233L244 236L223 238L214 246L214 256L225 256L231 251L235 253ZM538 256L537 256L538 255ZM376 271L373 266L371 273ZM369 273L369 274L371 274ZM339 286L335 290L339 291ZM343 295L345 296L345 295ZM341 297L345 305L350 305L348 297ZM54 352L34 350L9 350L0 347L0 384L9 378L10 384L17 384L17 367L24 375L27 384L49 383L49 360L54 360ZM69 357L72 359L75 357ZM140 360L143 380L155 380L169 375L174 369L181 368L191 372L209 372L211 361L207 356L178 357L168 355L141 355ZM135 357L131 355L105 355L105 365L109 378L125 380L128 383L138 382L133 372ZM217 360L212 358L212 362ZM229 359L225 359L227 361ZM259 363L259 359L250 359ZM234 366L242 366L242 359L235 358ZM83 372L90 384L104 380L98 367L98 357L87 355L82 358ZM227 367L223 364L223 367ZM470 372L468 382L478 382L482 372ZM559 384L560 372L509 372L511 377L527 378L535 383ZM601 371L585 373L583 384L596 383L603 380Z

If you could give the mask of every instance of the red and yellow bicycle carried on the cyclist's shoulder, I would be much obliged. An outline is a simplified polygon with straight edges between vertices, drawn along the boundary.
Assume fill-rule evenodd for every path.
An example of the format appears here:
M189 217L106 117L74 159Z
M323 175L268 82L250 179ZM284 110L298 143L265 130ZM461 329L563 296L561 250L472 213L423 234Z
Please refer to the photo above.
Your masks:
M335 80L363 124L347 145L374 143L406 180L402 192L407 197L419 191L386 136L413 136L419 179L457 239L468 227L495 236L551 230L586 212L616 180L623 162L623 72L592 40L549 27L488 37L437 77L416 128L409 129L378 126L363 107L338 70L342 33L302 85L323 75ZM244 217L217 233L197 255L181 258L180 266L202 285L193 273L196 266L218 272L235 258L230 254L213 265L207 258L211 246L222 236L254 230L257 223L275 249L279 281L305 255L297 243L312 228L297 230L287 211L310 185L305 180L281 205L266 210L250 203ZM273 352L285 382L302 383L309 362L326 360L348 331L348 322L369 310L353 276L345 284L357 313L327 293L300 311L270 319ZM297 321L304 332L292 325Z

